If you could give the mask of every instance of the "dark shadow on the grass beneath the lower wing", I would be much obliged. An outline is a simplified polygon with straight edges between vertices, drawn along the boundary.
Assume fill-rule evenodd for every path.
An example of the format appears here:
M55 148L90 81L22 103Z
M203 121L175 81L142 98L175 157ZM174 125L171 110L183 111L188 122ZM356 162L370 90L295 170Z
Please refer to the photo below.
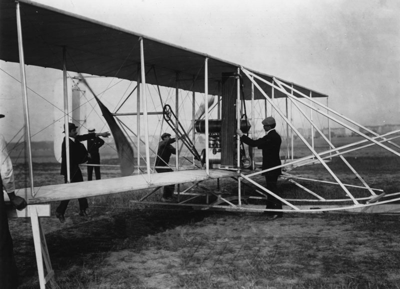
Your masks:
M126 248L140 250L147 235L203 220L208 212L200 211L121 211L81 221L46 234L52 268L60 288L83 267L101 263L110 251ZM14 240L19 268L20 289L37 288L38 276L32 237ZM69 275L69 277L68 277ZM77 287L84 287L77 286Z

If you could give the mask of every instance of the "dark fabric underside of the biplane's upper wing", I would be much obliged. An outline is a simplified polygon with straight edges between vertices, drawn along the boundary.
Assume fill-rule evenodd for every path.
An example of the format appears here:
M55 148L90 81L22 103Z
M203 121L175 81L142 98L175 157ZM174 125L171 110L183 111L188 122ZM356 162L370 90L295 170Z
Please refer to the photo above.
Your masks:
M67 71L136 81L140 65L139 38L143 38L146 83L204 92L204 59L208 58L208 85L217 87L222 73L235 72L239 64L188 50L127 31L106 23L57 10L29 0L19 0L25 64L62 69L62 48L66 48ZM0 59L19 62L14 0L0 0ZM265 56L267 57L267 56ZM251 71L251 69L248 69ZM254 71L253 71L254 72ZM271 76L257 73L272 81ZM193 85L195 78L195 85ZM251 85L243 79L244 97L251 98ZM292 83L285 83L291 85ZM271 95L271 88L261 85ZM293 84L309 95L312 90ZM274 97L284 96L275 91ZM326 95L312 91L312 97ZM263 96L255 91L255 99Z

